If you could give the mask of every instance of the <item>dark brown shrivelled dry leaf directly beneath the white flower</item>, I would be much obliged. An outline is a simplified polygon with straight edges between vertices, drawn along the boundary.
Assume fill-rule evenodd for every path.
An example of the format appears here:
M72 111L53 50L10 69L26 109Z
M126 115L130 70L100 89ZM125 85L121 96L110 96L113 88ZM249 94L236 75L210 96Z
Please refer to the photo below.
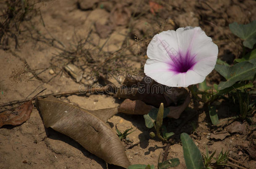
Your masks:
M128 75L123 85L126 87L118 88L115 97L140 100L155 107L159 107L161 103L164 103L165 107L183 103L188 96L185 88L168 87L148 76Z

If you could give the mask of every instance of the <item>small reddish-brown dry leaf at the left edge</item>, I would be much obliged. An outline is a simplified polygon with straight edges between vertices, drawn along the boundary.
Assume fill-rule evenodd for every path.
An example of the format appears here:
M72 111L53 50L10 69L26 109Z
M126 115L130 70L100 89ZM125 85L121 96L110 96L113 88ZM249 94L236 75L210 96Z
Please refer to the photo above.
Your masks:
M32 100L30 100L16 107L13 111L3 111L0 113L0 127L6 124L17 126L24 123L29 119L32 108Z

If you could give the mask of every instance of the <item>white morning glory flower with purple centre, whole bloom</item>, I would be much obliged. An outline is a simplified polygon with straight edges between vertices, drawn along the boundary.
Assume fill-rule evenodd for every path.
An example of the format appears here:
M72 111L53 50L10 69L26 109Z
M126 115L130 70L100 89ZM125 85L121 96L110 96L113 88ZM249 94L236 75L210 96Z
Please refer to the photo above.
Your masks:
M167 30L149 43L144 73L166 86L187 87L204 81L217 55L217 45L200 27Z

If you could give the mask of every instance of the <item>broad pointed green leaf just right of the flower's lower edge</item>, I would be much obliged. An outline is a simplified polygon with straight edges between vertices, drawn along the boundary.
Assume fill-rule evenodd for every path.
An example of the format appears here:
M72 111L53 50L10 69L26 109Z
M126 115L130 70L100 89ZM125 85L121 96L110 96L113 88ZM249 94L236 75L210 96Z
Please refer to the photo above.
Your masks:
M234 66L215 65L215 70L219 72L227 81L220 82L218 89L222 90L235 84L237 81L252 79L256 73L256 59L237 63Z

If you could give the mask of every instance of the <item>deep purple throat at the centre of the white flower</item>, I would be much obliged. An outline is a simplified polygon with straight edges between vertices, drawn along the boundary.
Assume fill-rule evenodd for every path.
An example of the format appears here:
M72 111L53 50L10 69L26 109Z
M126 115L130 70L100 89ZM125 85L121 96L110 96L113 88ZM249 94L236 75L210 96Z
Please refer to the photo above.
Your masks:
M185 73L188 70L192 70L193 66L196 64L196 61L194 60L196 55L191 56L189 50L185 55L182 55L180 52L177 55L168 54L171 58L170 63L168 63L170 65L170 71Z

